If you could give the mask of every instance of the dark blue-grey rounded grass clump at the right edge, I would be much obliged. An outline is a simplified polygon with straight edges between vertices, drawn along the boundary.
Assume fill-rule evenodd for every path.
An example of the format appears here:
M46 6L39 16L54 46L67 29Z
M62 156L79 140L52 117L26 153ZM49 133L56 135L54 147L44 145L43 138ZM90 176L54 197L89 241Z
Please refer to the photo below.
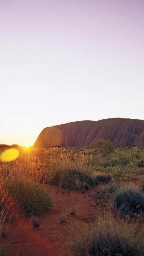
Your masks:
M121 218L134 218L137 215L144 217L144 196L135 186L122 188L116 195L114 206Z

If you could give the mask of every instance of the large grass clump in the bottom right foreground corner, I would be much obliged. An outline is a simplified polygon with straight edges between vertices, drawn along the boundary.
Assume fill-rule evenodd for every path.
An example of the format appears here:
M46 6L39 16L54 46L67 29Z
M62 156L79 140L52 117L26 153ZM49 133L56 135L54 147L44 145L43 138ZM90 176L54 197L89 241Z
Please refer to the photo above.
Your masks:
M71 244L80 256L143 256L144 230L111 215L99 216L91 226L74 231Z

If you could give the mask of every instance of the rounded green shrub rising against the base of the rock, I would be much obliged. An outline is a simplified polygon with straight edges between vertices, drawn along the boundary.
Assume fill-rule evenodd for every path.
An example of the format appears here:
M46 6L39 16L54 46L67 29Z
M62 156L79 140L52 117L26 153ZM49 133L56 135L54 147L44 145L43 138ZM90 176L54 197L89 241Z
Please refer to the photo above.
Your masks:
M114 151L113 143L110 140L98 140L95 144L95 151L106 156Z

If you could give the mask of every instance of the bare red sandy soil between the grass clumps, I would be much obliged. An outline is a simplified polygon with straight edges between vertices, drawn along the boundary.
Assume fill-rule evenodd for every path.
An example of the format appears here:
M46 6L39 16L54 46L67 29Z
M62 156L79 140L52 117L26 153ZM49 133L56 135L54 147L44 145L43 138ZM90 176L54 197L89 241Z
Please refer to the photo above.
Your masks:
M135 184L144 181L144 175L136 176ZM54 200L52 209L47 214L40 216L41 225L34 228L30 218L16 218L10 223L6 242L15 256L76 256L76 252L66 245L71 236L72 227L89 223L94 220L99 212L103 212L102 205L96 205L93 199L98 197L97 188L80 191L70 191L47 186ZM71 215L72 210L75 214ZM66 222L61 223L60 220Z

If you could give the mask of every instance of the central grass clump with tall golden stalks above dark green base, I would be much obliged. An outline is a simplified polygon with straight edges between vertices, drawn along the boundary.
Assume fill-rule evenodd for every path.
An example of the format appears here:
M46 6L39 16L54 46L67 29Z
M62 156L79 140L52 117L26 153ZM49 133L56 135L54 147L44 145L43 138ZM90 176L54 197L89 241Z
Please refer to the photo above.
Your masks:
M94 185L91 158L86 154L59 154L51 159L51 184L83 190Z

